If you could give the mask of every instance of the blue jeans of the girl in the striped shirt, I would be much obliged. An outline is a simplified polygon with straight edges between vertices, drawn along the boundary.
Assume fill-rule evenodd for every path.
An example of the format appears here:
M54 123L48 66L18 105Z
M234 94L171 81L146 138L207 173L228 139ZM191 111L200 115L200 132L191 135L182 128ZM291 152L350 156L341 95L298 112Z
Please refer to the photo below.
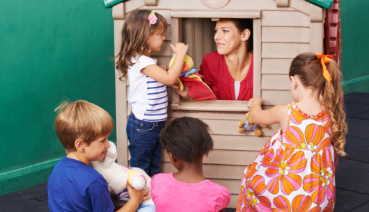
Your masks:
M133 113L128 117L126 131L131 154L129 165L145 170L150 177L160 172L162 144L159 133L164 127L165 121L145 122L138 120Z

